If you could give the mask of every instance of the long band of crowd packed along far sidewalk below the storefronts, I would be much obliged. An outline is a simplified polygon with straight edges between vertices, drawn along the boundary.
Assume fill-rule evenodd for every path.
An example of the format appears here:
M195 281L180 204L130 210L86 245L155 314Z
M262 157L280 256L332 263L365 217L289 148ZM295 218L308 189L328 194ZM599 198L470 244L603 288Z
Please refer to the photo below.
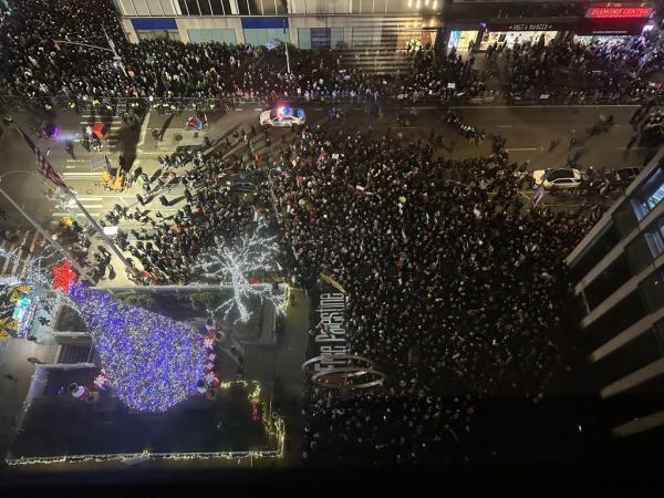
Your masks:
M181 43L155 39L129 43L110 0L66 0L52 9L46 0L10 1L15 7L0 25L0 93L39 100L51 97L73 105L102 97L269 98L299 96L375 100L400 97L484 96L486 81L474 58L430 48L400 56L408 69L397 74L365 74L338 50L291 49L286 71L283 48L220 43ZM39 14L38 14L39 13ZM113 41L121 61L107 50ZM72 42L72 43L70 43ZM369 49L367 49L369 50ZM492 45L490 60L504 58L506 93L550 94L569 98L639 98L661 90L647 77L662 66L664 49L649 34L620 42L574 42L571 37L543 43ZM126 72L126 73L125 73ZM489 73L484 73L488 76ZM454 83L454 89L448 84Z

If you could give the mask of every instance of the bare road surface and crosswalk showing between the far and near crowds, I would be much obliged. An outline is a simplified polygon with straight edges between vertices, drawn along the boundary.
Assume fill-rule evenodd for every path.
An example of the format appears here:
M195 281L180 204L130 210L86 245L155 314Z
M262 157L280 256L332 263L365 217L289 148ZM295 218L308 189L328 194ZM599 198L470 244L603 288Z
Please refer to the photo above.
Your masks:
M373 126L378 131L392 128L393 133L402 133L406 139L427 139L432 129L443 135L445 143L453 147L452 153L444 153L453 158L476 157L489 152L489 143L476 145L459 136L450 125L443 124L439 120L440 111L433 106L416 107L416 116L408 126L395 121L396 107L386 107L382 117L369 115L361 104L345 104L342 106L345 117L340 126L347 129L349 134L359 128ZM311 103L304 105L308 123L323 123L328 120L329 104ZM507 138L506 148L512 160L528 162L528 169L564 166L568 145L571 137L577 137L583 143L583 154L579 160L580 168L620 168L624 166L642 166L646 151L632 148L625 151L625 145L632 135L629 118L635 106L478 106L454 107L461 118L461 123L476 126L487 134L499 134ZM211 114L210 127L207 136L215 139L243 127L247 132L251 124L258 128L258 114L261 111L256 105L231 108L225 115ZM599 136L585 139L585 132L599 120L600 114L612 114L615 126ZM30 133L44 121L39 114L13 114L14 121ZM187 113L170 117L152 112L146 116L141 128L127 127L118 117L98 117L94 115L76 115L70 111L60 111L55 123L61 129L59 139L35 139L42 152L49 152L49 159L64 180L79 193L80 200L93 216L103 218L115 204L129 208L137 206L135 195L141 193L134 186L124 193L107 191L101 185L101 165L107 156L113 165L117 165L121 154L128 159L134 168L141 167L152 175L159 167L158 155L169 154L179 145L196 144L203 141L204 134L194 137L193 131L185 131ZM76 142L74 156L65 149L64 139L76 139L81 136L82 127L89 123L104 121L110 127L110 139L104 143L101 153L86 152ZM166 127L165 127L166 126ZM149 129L164 128L163 142L156 142ZM278 138L286 131L276 131L272 136ZM34 136L34 135L32 135ZM559 139L560 144L549 153L549 144ZM274 144L278 139L273 139ZM264 143L258 143L264 146ZM22 172L35 170L34 156L22 142L21 137L4 129L0 138L0 185L9 191L19 204L39 221L48 225L58 218L74 212L75 209L58 201L58 189L41 180L34 175ZM178 187L179 188L179 187ZM50 191L54 190L54 191ZM181 190L175 189L169 198L181 197ZM50 198L49 198L50 197ZM164 209L155 199L146 209L159 209L168 215L180 208L181 201ZM7 201L0 199L0 207L12 212ZM77 216L82 216L79 214ZM15 225L18 217L12 215L9 225Z

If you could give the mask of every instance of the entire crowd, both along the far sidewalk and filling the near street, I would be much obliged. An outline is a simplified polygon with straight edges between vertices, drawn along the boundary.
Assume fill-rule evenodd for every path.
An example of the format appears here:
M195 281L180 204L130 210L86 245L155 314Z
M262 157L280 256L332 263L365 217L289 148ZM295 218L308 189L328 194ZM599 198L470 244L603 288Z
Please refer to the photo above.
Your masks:
M107 52L66 43L103 44L104 31L126 75ZM342 68L334 51L298 50L288 74L277 55L247 44L132 44L108 0L65 0L58 9L46 0L21 0L0 27L0 93L43 102L284 94L377 102L445 97L450 82L468 96L486 91L473 59L454 52L404 55L412 71L398 75L362 74ZM647 77L663 56L647 37L625 44L566 38L549 45L496 45L487 54L505 64L510 96L583 92L616 101L657 96L662 90ZM560 68L569 71L564 81ZM602 77L578 77L592 71ZM662 112L642 108L634 116L639 135L661 129ZM454 114L443 123L466 139L486 139ZM329 274L347 291L350 350L378 364L387 381L369 394L308 385L305 460L426 463L469 437L478 398L542 401L567 366L558 346L569 313L563 257L598 210L583 206L570 215L530 206L520 194L522 165L510 162L498 137L490 155L450 159L435 133L408 142L390 132L351 133L330 121L294 131L274 147L264 133L242 131L232 143L226 137L214 147L162 158L162 175L136 174L147 185L145 197L158 197L165 207L170 189L184 186L186 201L174 215L152 217L117 205L106 218L144 225L118 232L137 282L190 282L201 251L219 238L250 232L259 217L280 234L284 268L301 279ZM261 162L259 143L261 154L267 148ZM257 187L250 200L234 191L238 173ZM145 205L143 195L137 200ZM103 274L110 256L95 259Z

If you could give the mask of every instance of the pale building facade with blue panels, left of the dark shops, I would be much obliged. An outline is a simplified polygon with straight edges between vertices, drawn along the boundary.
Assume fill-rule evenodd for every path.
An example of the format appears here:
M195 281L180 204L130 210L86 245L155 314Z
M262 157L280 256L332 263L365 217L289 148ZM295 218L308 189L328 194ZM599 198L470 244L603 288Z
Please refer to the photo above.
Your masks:
M184 42L301 49L433 44L442 0L114 0L129 41L167 37Z

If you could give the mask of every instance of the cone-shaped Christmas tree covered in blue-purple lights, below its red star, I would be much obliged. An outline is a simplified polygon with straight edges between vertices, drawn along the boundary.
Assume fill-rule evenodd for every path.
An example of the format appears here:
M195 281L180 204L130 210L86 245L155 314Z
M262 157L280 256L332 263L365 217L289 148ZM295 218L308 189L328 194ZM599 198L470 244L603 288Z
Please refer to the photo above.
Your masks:
M70 286L70 295L90 329L111 386L129 408L166 412L195 391L204 375L206 350L194 329L80 282Z

